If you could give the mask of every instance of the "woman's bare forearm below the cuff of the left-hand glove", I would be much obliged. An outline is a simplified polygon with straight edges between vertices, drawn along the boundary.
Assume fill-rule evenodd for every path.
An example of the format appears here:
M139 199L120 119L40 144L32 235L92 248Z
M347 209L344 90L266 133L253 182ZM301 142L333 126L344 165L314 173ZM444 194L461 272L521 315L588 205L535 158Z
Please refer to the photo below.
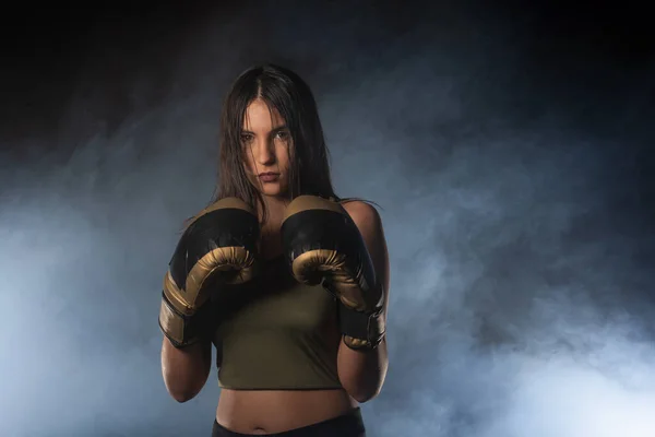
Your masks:
M189 401L200 392L210 375L211 362L212 345L209 341L176 349L164 336L162 375L168 393L176 401Z

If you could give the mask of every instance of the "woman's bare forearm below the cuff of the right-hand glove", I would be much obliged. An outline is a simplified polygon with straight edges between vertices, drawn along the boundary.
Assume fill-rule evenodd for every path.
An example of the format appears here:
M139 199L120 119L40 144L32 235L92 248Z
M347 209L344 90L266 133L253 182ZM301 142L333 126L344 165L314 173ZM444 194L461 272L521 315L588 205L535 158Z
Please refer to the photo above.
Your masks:
M337 355L338 378L357 402L367 402L380 393L388 367L385 339L378 347L361 351L352 350L342 340Z

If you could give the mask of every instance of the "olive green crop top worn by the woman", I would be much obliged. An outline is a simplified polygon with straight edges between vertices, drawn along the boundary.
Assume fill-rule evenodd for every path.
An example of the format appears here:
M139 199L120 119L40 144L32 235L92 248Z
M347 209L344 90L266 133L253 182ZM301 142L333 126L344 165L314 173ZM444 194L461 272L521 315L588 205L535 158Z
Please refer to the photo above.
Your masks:
M340 389L336 300L297 283L278 257L247 286L214 304L218 385L233 390Z

